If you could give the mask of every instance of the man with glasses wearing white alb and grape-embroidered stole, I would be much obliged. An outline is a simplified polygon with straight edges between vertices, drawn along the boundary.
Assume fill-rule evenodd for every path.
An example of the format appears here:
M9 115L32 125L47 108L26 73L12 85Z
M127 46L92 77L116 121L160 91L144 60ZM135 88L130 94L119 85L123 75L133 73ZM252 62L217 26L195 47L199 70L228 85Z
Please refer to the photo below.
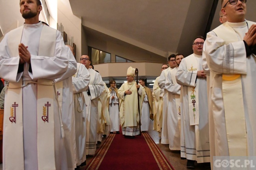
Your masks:
M181 157L187 168L194 169L195 161L210 166L209 121L206 74L202 69L204 37L192 44L193 54L184 58L176 72L181 85Z

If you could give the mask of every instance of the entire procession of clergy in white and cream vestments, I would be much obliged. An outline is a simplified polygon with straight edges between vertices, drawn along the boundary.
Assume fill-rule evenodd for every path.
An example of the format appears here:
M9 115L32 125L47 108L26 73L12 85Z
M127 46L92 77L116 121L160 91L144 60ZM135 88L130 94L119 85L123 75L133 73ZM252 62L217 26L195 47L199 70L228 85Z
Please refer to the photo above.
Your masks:
M246 0L222 0L221 26L191 40L193 54L170 55L153 91L132 67L119 89L115 80L107 87L87 54L77 63L60 32L39 21L41 10L21 0L25 23L0 43L3 169L79 169L102 137L121 127L136 138L150 119L189 169L213 169L213 156L256 156L256 24L245 20Z

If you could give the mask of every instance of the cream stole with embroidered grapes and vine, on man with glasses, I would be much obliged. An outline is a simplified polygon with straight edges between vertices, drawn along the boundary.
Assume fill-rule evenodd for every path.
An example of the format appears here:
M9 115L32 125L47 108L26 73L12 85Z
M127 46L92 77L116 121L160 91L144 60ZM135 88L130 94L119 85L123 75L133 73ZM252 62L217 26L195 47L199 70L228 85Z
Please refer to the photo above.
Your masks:
M192 84L191 79L194 71L198 71L198 63L197 59L194 56L195 54L191 54L187 56L186 65L187 72L191 73L190 77L190 85L188 86L188 111L189 111L189 124L190 125L198 125L199 124L199 100L198 100L198 86L197 84Z

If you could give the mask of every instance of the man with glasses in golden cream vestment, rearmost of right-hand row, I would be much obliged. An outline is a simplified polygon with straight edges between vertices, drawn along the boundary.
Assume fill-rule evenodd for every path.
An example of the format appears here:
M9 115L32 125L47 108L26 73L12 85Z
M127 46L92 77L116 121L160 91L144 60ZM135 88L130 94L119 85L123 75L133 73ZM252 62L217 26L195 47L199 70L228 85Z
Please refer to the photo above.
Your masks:
M161 71L167 69L169 66L167 64L162 64ZM158 80L160 76L156 78L154 85L153 85L153 117L154 117L154 125L153 130L158 132L159 137L161 138L161 130L162 130L162 122L163 122L163 115L162 115L162 106L163 106L163 89L158 86Z

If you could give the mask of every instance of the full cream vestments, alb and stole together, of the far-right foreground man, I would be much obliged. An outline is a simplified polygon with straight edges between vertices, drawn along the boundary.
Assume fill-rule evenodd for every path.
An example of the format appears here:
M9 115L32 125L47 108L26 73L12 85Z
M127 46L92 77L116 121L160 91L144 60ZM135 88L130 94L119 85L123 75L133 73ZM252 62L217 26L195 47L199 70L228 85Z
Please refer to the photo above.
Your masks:
M253 22L253 24L255 23ZM229 36L229 43L226 43L227 40L225 39L225 36L219 37L216 35L217 33L215 32L218 31L217 29L207 34L207 39L205 41L206 46L203 50L203 54L206 56L212 77L212 104L210 108L212 110L212 115L209 117L209 120L210 122L213 122L211 123L210 129L213 129L212 132L214 133L210 134L211 156L256 155L256 125L255 123L252 123L256 121L254 112L256 109L256 93L253 90L253 87L256 85L254 76L256 71L253 69L256 67L255 55L251 54L246 57L245 45L242 41L251 25L251 21L244 21L240 23L227 22L225 25L219 26L218 29L222 29L221 31ZM234 39L238 40L235 41ZM237 105L235 104L236 101L233 103L233 100L238 98L238 100L241 100L241 97L239 97L240 95L236 95L235 97L231 96L230 98L232 99L229 100L229 103L226 102L226 104L232 104L232 106L228 106L232 108L226 107L225 97L223 96L223 94L234 94L234 91L223 91L223 84L226 83L228 86L232 85L232 87L235 87L236 81L240 78L238 77L238 79L234 79L234 83L232 84L229 84L230 81L227 80L223 83L223 74L241 75L241 83L239 84L241 84L242 87L240 87L239 90L240 93L242 92L242 102L240 102L239 105L243 103L243 112L239 112L238 110L232 111L233 108L236 109ZM229 90L231 87L225 89ZM232 111L232 119L229 119L229 116L226 116L229 112L227 109ZM239 108L239 110L240 109L241 108ZM243 115L240 113L244 113L244 118L241 119L241 116L243 117ZM226 118L228 118L228 120L226 120ZM232 122L232 125L235 125L236 127L232 127L232 125L230 126L230 121L234 121ZM239 130L236 128L239 128ZM247 139L245 139L244 136L245 132ZM219 145L220 143L222 145ZM233 143L236 144L233 145Z

